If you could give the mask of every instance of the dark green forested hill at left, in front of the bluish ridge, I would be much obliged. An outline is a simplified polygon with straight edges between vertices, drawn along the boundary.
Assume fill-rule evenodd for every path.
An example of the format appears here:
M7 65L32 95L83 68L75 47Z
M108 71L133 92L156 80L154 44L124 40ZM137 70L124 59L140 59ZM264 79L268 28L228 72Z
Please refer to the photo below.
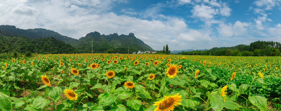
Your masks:
M62 54L77 53L70 44L66 44L54 37L40 39L26 39L18 36L4 36L0 34L0 53L31 53L38 54Z

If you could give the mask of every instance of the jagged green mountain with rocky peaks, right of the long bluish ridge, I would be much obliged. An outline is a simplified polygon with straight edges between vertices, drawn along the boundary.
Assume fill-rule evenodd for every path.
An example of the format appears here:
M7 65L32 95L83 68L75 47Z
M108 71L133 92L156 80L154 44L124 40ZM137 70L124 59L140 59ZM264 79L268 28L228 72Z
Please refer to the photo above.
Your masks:
M91 32L85 37L81 37L74 46L79 52L93 52L96 53L133 53L139 50L154 51L150 46L145 44L142 40L137 39L133 33L129 35L118 35L116 33L110 35L101 35L99 32Z

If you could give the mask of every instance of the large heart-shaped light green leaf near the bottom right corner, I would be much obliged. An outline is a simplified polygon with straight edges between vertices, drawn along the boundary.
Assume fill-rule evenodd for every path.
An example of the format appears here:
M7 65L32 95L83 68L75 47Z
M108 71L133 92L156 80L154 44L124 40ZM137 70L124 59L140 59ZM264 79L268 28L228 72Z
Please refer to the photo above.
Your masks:
M266 109L267 109L267 99L263 95L257 94L255 96L250 96L249 101L253 105L257 106L261 111L266 111Z

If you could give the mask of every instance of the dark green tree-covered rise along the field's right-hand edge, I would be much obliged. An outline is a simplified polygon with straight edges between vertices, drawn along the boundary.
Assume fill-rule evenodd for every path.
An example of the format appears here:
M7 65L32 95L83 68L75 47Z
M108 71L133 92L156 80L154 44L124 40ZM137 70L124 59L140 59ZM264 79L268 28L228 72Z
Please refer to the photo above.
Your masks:
M181 55L217 55L217 56L280 56L281 43L273 41L256 41L250 45L234 47L213 47L206 51L183 51Z

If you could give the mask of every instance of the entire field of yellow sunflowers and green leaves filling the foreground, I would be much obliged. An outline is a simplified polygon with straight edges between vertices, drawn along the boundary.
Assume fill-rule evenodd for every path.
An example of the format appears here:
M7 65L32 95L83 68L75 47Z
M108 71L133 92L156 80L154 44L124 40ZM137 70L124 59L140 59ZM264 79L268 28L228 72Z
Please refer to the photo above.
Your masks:
M1 57L1 111L281 110L277 56Z

